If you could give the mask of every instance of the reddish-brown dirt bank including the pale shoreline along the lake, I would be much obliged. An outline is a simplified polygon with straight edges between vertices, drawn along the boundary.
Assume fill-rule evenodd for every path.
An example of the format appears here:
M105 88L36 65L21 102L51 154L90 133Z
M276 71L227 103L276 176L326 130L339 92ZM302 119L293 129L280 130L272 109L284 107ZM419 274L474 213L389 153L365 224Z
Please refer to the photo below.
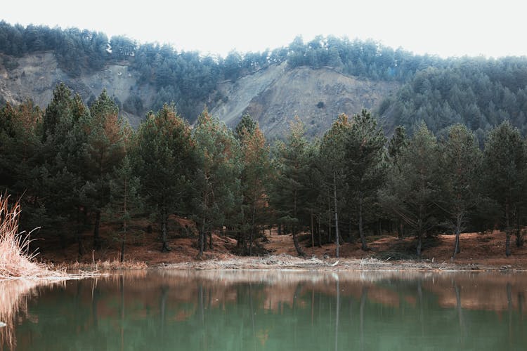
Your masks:
M335 257L335 245L325 244L311 247L311 238L301 241L306 258L299 258L290 235L271 235L258 245L261 257L236 256L236 241L228 237L213 235L214 249L205 251L203 260L197 260L197 239L174 235L169 239L171 251L160 252L157 234L150 233L141 240L126 246L124 268L171 267L176 269L308 269L308 270L527 270L527 247L512 246L512 256L505 256L505 233L469 233L460 239L461 253L451 259L454 236L439 235L425 241L422 258L415 256L415 242L409 237L384 235L369 237L369 251L362 251L360 244L344 243L340 246L340 257ZM85 246L91 244L90 233L84 237ZM47 240L46 240L47 241ZM40 242L44 244L43 241ZM77 254L77 245L72 243L64 249L51 249L58 244L48 241L41 249L41 260L55 265L82 268L97 266L99 269L118 268L119 244L105 241L104 249L86 250L84 256ZM338 260L338 263L337 263ZM79 263L81 265L79 265ZM335 264L336 263L336 264Z

